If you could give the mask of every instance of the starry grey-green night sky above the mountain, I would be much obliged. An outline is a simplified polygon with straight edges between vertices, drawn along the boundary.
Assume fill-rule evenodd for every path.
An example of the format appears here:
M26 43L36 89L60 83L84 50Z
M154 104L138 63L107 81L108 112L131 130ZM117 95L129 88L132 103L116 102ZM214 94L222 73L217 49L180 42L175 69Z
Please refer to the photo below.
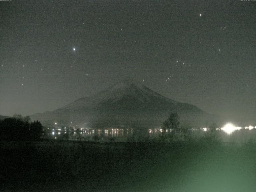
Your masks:
M256 115L256 1L0 1L0 114L31 115L132 79Z

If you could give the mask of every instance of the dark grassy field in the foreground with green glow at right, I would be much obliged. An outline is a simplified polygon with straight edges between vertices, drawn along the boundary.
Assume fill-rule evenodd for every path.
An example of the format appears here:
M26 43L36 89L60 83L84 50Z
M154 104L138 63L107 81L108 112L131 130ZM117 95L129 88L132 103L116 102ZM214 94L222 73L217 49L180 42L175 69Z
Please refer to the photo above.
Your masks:
M256 191L254 143L0 142L0 155L0 191Z

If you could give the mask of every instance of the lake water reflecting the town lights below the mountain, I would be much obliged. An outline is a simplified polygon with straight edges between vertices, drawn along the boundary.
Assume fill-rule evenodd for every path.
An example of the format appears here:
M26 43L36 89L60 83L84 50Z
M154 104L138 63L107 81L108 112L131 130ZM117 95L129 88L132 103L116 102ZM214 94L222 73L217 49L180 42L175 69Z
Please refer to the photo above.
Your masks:
M97 142L138 142L158 140L164 132L170 130L148 129L148 130L132 130L132 129L110 129L110 130L92 130L92 129L49 129L45 132L45 138L58 140L78 140L78 141L97 141ZM206 133L203 129L192 129L190 134L192 137L203 136ZM166 133L168 134L168 133ZM224 142L246 142L253 140L256 142L256 129L242 129L226 134L224 131L218 132L220 138Z

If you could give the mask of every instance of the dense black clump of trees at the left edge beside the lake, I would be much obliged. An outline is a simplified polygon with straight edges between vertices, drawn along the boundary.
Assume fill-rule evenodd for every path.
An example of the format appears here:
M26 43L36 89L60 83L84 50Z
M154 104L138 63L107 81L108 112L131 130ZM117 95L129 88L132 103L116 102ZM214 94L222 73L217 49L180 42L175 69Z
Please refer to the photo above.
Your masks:
M42 124L38 121L31 122L29 116L14 115L12 118L0 120L0 140L40 140L42 131Z

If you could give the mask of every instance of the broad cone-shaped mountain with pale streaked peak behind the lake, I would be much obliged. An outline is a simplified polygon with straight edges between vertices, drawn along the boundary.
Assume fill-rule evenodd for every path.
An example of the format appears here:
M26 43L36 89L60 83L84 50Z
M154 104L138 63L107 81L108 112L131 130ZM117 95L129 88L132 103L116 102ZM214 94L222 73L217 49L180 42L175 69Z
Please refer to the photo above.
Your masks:
M96 128L153 128L161 126L170 112L177 112L181 124L189 126L206 126L215 118L196 106L166 98L132 80L123 80L91 97L80 98L52 112L34 114L31 118L44 125L58 122Z

